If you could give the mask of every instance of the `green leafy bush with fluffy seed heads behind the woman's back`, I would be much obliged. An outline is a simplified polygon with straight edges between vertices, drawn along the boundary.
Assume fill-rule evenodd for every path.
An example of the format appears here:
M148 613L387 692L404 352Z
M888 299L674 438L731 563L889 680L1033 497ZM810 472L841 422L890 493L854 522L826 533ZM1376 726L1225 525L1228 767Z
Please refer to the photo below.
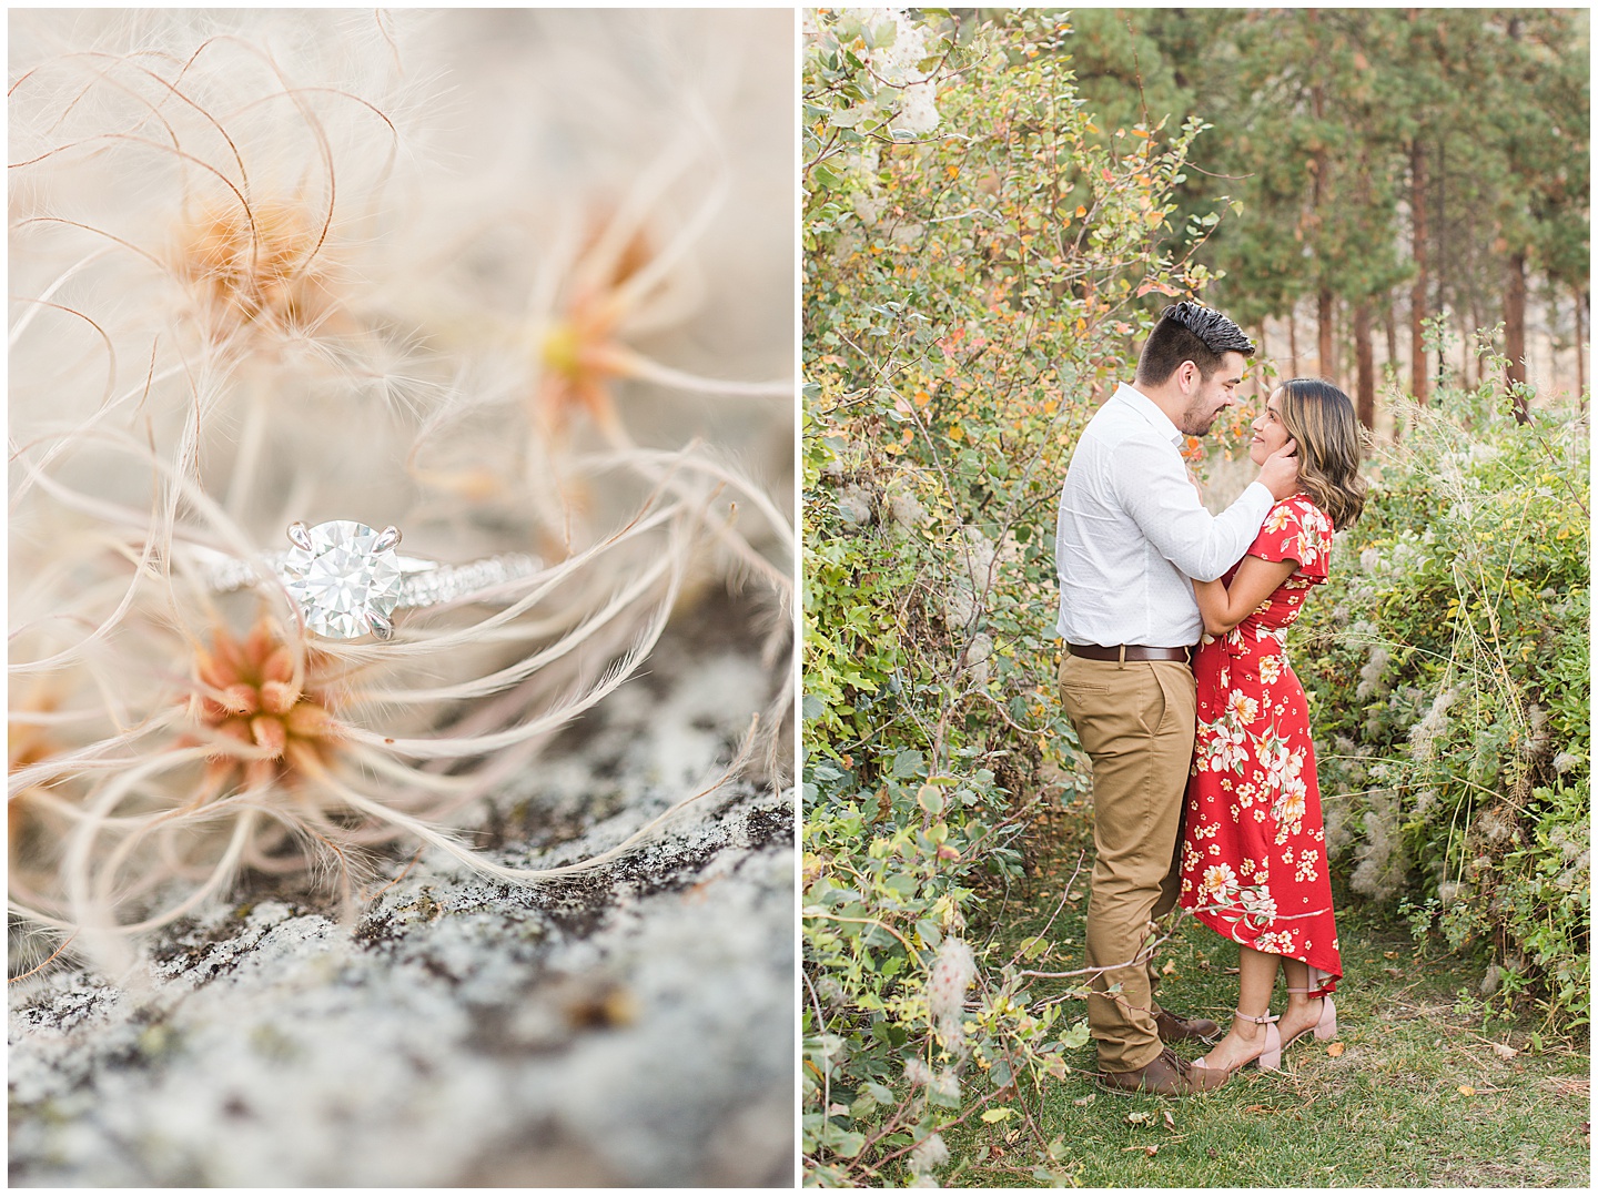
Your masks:
M1501 1011L1534 995L1569 1028L1588 992L1588 425L1518 423L1515 398L1488 380L1395 401L1294 667L1355 893L1491 955Z

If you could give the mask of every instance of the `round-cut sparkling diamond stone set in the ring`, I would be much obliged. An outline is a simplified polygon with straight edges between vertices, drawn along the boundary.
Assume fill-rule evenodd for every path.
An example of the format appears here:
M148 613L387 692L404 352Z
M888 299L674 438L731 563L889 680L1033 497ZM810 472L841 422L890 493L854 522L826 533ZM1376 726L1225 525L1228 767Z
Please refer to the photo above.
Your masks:
M379 548L382 532L350 519L305 530L283 559L283 583L305 613L305 626L329 639L358 639L372 620L387 628L400 602L400 556Z

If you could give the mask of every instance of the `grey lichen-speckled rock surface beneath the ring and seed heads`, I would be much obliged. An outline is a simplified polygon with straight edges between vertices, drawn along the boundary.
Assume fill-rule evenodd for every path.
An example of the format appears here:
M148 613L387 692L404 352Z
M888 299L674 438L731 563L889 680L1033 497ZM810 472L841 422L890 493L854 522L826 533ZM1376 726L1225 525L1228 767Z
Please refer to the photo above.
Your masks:
M497 802L497 856L618 842L770 685L676 636ZM791 1186L791 794L732 786L559 885L406 862L353 923L246 880L125 987L13 984L11 1183Z

